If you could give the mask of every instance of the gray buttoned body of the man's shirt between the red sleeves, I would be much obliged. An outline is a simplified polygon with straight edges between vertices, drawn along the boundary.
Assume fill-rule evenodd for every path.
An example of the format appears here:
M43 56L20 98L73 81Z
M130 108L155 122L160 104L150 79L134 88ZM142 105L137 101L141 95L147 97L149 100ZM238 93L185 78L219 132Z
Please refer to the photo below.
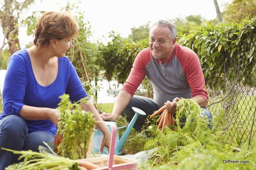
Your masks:
M175 97L192 98L191 89L176 56L167 64L157 62L154 57L145 67L148 81L153 86L154 101L158 107Z

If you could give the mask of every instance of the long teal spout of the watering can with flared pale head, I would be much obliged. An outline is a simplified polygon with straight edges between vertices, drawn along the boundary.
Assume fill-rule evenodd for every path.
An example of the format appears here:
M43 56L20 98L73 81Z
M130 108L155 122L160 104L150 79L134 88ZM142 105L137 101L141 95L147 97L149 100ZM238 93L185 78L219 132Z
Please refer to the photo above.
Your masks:
M145 113L144 111L142 111L142 110L140 110L140 109L138 109L138 108L132 107L132 109L134 110L135 115L134 115L134 117L131 119L131 122L130 122L129 125L127 126L125 132L122 134L121 139L119 140L119 142L118 142L117 145L116 145L116 152L117 152L117 153L121 153L122 147L123 147L123 145L124 145L126 139L128 138L128 136L129 136L129 134L130 134L130 132L131 132L131 129L132 129L132 127L134 126L134 124L135 124L135 122L136 122L138 116L140 116L140 115L144 115L144 116L145 116L145 115L146 115L146 113Z

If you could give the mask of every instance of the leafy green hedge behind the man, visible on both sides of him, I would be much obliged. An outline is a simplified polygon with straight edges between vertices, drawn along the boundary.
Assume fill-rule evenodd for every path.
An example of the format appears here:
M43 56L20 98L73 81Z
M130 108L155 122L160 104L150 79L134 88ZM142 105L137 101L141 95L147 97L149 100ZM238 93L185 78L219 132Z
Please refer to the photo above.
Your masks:
M207 24L187 36L178 36L180 45L191 48L198 54L206 79L206 85L224 88L226 77L234 79L238 74L240 83L249 84L256 77L256 18L241 23L222 23L219 26ZM148 40L134 43L125 41L119 35L112 35L101 50L105 60L106 76L124 83L132 68L135 57Z

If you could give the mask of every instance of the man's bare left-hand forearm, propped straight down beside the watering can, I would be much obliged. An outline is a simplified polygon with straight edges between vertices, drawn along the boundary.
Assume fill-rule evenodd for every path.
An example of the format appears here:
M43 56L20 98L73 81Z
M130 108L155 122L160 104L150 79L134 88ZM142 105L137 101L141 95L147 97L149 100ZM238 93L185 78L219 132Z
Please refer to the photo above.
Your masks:
M112 114L119 116L129 104L131 97L131 94L127 91L121 90L117 95L116 102L114 103Z

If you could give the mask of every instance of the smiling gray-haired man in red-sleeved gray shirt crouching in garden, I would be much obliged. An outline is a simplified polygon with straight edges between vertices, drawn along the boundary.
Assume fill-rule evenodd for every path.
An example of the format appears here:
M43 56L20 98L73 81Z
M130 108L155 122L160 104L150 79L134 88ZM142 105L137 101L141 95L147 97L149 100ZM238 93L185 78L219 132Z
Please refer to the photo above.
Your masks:
M102 113L102 118L115 121L122 114L128 116L130 122L134 116L132 107L152 114L166 105L169 112L175 113L176 104L183 97L197 101L204 108L204 115L211 119L211 113L205 108L208 95L198 56L191 49L176 43L175 26L169 21L157 21L151 27L149 36L149 48L140 51L134 60L131 73L117 95L112 114ZM133 96L145 76L153 86L154 100ZM138 117L134 125L136 130L141 130L146 117Z

